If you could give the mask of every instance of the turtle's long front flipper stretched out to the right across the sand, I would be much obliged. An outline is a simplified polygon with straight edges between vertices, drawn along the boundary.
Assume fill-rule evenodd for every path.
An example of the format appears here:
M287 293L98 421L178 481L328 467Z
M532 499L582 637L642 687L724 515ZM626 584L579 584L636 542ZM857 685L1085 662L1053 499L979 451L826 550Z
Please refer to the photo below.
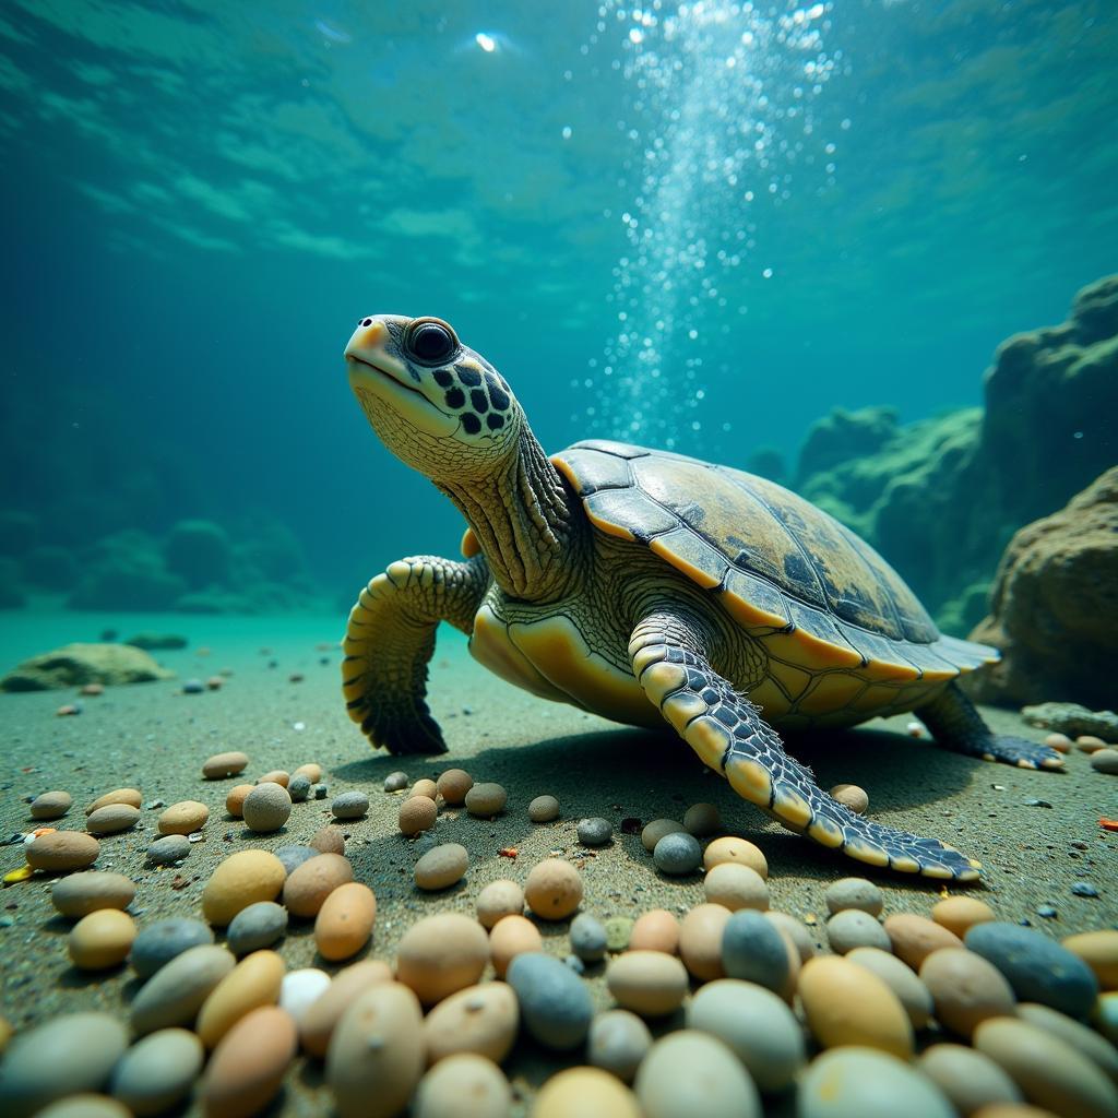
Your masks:
M759 708L710 665L698 618L675 608L645 617L629 641L633 673L675 731L738 795L785 827L870 865L970 881L978 863L936 839L855 815L784 751Z

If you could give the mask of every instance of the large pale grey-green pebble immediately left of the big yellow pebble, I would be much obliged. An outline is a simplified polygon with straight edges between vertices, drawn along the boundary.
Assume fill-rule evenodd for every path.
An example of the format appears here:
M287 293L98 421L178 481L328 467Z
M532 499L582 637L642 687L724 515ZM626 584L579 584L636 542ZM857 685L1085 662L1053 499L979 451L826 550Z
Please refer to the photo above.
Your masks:
M719 978L701 987L688 1005L686 1026L728 1044L766 1093L786 1090L806 1062L796 1015L751 982Z

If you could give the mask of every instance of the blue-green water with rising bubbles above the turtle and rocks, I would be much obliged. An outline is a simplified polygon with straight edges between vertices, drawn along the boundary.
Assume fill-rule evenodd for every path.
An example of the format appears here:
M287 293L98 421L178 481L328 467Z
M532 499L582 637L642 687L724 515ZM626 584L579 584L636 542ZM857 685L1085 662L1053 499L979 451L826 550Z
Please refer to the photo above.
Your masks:
M10 0L0 511L278 523L329 600L452 552L345 383L382 311L552 449L975 405L1115 271L1116 58L1109 0Z

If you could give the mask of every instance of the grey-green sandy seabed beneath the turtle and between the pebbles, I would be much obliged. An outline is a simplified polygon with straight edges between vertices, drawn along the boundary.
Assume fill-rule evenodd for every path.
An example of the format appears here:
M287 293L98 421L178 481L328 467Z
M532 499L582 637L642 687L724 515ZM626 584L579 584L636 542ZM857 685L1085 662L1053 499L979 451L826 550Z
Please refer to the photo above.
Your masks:
M0 636L0 670L69 641L96 639L108 625L124 637L151 629L189 636L188 648L157 653L178 678L82 699L83 713L74 718L55 716L59 704L73 701L74 692L0 694L4 743L0 832L8 837L29 831L34 824L26 799L40 792L72 793L74 807L55 825L79 830L85 804L97 795L120 786L140 788L145 804L141 823L131 833L102 840L95 869L126 873L138 883L133 912L141 927L168 916L197 917L202 887L226 855L250 845L274 850L305 842L330 822L329 799L296 804L286 827L272 835L253 835L224 811L226 793L235 784L312 760L323 766L331 796L354 788L370 795L368 817L345 824L344 830L356 877L377 894L369 953L377 958L391 960L404 930L418 917L444 910L472 913L484 884L504 877L523 882L536 862L551 855L572 858L579 866L586 887L584 911L600 918L636 916L660 907L682 912L703 900L700 877L673 880L657 874L638 831L623 833L622 821L679 818L699 800L717 804L730 833L761 846L770 866L773 907L808 922L816 918L813 931L818 942L826 912L823 894L840 877L871 877L884 893L887 913L927 915L947 894L937 882L873 871L784 832L738 799L674 736L619 728L504 684L474 664L464 638L445 628L429 688L432 711L449 747L438 758L373 751L349 721L339 689L340 615L246 619L12 613L6 615ZM203 648L208 654L201 654ZM205 679L221 669L233 674L220 691L181 693L183 679ZM290 682L293 672L302 673L303 681ZM987 714L1002 731L1040 737L1012 712ZM979 859L983 882L951 892L980 897L1001 918L1026 918L1054 937L1118 922L1118 835L1098 823L1100 816L1118 815L1118 783L1112 777L1092 771L1081 752L1069 757L1065 775L973 760L938 749L927 739L912 740L904 735L907 722L906 718L875 721L856 732L796 743L793 751L814 767L823 787L852 783L865 788L872 817L946 839ZM246 773L228 780L202 780L202 761L231 749L248 754ZM509 790L505 813L489 822L464 811L444 811L436 828L418 841L399 835L400 794L382 790L385 776L402 769L415 780L455 766L466 768L476 780L503 784ZM527 806L543 793L558 796L562 817L536 825L528 819ZM191 849L181 868L149 868L144 853L160 808L146 805L180 799L210 806L206 841ZM1030 799L1051 807L1027 806ZM590 815L614 823L610 846L579 847L576 824ZM470 852L470 870L454 889L423 894L413 884L411 869L436 842L462 843ZM510 849L515 856L502 853ZM0 849L3 872L22 862L21 846ZM1071 885L1078 880L1093 884L1098 898L1073 896ZM49 890L49 879L37 877L2 892L0 1012L17 1029L85 1008L125 1015L138 988L131 970L122 967L95 976L75 970L66 955L70 921L55 913ZM1044 904L1057 909L1055 919L1038 916L1038 907ZM566 927L565 922L543 926L549 951L567 954ZM310 922L294 921L280 950L292 968L315 965ZM606 1007L610 1001L603 970L591 967L588 978L596 1003ZM506 1070L523 1100L533 1084L560 1065L522 1043ZM310 1115L325 1109L321 1076L307 1065L288 1077L276 1112Z

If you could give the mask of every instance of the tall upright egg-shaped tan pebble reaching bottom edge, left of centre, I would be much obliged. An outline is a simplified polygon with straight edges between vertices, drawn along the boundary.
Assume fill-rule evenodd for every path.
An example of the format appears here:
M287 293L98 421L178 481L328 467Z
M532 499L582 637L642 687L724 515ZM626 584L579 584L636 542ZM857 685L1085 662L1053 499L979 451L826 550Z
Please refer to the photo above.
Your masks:
M423 1012L415 994L397 982L359 994L326 1052L326 1086L340 1118L396 1118L423 1069Z

